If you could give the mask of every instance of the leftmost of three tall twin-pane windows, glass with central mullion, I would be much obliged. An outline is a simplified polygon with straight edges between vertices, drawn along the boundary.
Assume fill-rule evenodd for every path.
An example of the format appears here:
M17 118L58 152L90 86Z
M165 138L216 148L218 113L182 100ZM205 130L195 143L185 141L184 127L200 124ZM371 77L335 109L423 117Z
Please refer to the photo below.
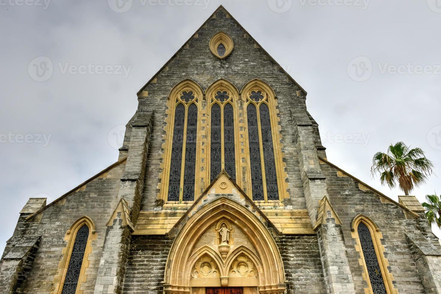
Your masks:
M174 99L172 149L168 177L168 201L193 201L196 184L198 97L185 89Z

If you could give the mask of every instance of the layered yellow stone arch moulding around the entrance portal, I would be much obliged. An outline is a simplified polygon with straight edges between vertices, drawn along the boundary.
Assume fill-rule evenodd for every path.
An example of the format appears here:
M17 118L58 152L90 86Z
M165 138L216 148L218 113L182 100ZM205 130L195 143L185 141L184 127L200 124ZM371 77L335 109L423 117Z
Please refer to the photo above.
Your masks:
M197 260L196 257L191 255L192 249L202 234L221 220L235 223L237 227L243 230L256 249L256 257L261 261L262 266L262 272L259 273L259 284L262 287L284 284L283 261L277 244L268 229L249 209L232 199L220 197L194 213L177 234L165 266L165 293L185 293L185 290L190 287L191 275L189 271L192 267L189 266L188 261L190 259L191 261ZM235 254L230 253L231 258L233 255ZM220 263L219 259L217 261ZM225 264L229 262L230 259L227 257ZM176 290L173 290L173 288L176 288Z

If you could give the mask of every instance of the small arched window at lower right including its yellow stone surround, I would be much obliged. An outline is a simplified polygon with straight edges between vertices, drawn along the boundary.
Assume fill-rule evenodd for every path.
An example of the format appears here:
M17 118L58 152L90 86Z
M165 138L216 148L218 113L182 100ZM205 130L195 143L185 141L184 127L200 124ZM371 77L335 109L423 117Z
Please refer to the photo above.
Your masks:
M387 269L389 265L384 257L384 247L381 245L381 232L369 217L357 216L353 221L352 237L357 239L360 257L370 293L392 294L397 293L392 285L392 275ZM392 277L392 279L391 279Z

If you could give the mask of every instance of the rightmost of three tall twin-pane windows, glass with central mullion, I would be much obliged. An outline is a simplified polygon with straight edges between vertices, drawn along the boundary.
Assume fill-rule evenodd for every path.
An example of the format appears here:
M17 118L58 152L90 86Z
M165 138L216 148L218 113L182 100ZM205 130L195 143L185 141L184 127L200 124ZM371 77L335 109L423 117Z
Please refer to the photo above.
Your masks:
M269 96L259 88L246 95L251 194L255 201L279 200Z

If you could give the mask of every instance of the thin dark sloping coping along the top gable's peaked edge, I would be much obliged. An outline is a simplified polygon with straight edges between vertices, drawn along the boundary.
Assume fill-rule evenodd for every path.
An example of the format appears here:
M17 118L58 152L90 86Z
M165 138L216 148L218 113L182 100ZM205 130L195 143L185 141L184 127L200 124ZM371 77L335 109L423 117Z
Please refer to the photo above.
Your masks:
M139 91L136 93L136 95L137 96L139 96L139 94L141 94L141 92L146 88L146 86L148 86L155 78L156 78L156 76L158 75L158 74L160 74L161 73L161 71L163 71L164 70L164 68L168 65L168 63L170 63L177 55L178 55L178 53L187 45L187 43L188 42L190 42L191 41L191 39L193 38L193 36L195 35L195 34L197 34L198 33L198 31L199 30L201 30L205 25L206 25L206 23L211 19L211 18L213 18L213 16L218 12L218 11L220 11L220 10L224 10L225 11L225 13L227 14L227 15L229 15L229 17L248 35L248 37L250 37L250 39L251 40L253 40L254 41L254 43L260 48L260 49L262 49L262 51L269 57L269 59L271 60L271 61L273 61L273 63L275 63L276 65L277 65L277 67L279 67L279 69L296 85L296 86L298 86L299 88L300 88L300 90L302 90L302 92L304 93L304 96L306 96L306 94L307 94L307 92L305 91L305 89L303 89L302 88L302 86L300 86L299 85L299 83L298 82L296 82L295 81L295 79L294 78L292 78L291 77L291 75L290 74L288 74L288 72L287 71L285 71L285 69L282 67L282 66L280 66L280 64L279 63L277 63L277 61L276 60L274 60L274 58L271 56L271 55L269 55L269 53L268 52L266 52L266 50L264 49L264 48L262 48L262 46L258 43L258 41L256 41L251 35L250 35L250 33L248 33L248 31L247 30L245 30L244 28L243 28L243 26L231 15L231 13L227 10L227 9L225 9L225 7L223 6L223 5L220 5L219 7L217 7L217 9L209 16L209 18L204 22L204 23L202 23L202 25L191 35L191 37L187 40L187 41L185 41L185 43L176 51L176 53L175 54L173 54L173 56L169 59L169 60L167 60L167 62L166 63L164 63L164 65L159 69L159 71L157 71L154 75L153 75L153 77L152 78L150 78L149 79L149 81L148 82L146 82L146 84L144 85L144 86L142 86L142 88L141 89L139 89ZM208 50L208 49L207 49Z

